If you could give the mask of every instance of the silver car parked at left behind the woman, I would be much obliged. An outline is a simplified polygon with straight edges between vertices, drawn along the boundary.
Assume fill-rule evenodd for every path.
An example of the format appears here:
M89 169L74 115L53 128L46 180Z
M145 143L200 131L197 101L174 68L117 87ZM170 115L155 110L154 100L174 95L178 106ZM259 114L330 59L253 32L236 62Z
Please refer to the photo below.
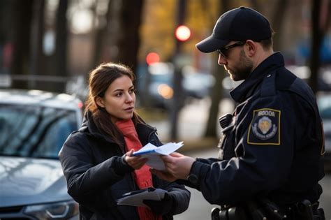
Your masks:
M78 219L57 157L82 121L68 94L0 89L0 219Z

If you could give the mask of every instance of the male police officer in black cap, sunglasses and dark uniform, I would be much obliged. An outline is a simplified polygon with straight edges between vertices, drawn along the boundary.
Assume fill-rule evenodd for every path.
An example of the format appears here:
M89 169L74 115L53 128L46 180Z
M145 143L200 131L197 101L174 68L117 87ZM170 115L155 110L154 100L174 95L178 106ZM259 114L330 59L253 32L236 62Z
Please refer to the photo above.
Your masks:
M167 173L153 172L198 189L222 209L244 204L255 212L251 207L261 206L259 201L270 201L264 205L283 213L283 219L318 219L323 211L318 210L318 181L324 176L321 118L313 91L273 51L272 34L267 18L251 8L219 17L212 35L196 47L219 52L218 63L230 78L244 80L230 91L237 108L220 119L219 156L193 159L174 153L163 156ZM302 201L311 207L304 216Z

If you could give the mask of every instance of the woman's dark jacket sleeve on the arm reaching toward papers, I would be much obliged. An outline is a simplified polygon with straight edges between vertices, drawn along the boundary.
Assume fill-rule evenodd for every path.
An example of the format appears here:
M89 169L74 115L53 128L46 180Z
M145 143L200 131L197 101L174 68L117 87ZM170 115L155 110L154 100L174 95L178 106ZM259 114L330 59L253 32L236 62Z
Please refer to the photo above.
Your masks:
M123 163L121 156L94 165L89 140L81 133L75 133L66 140L59 152L59 159L67 180L68 193L79 203L102 201L101 189L123 179L132 168Z

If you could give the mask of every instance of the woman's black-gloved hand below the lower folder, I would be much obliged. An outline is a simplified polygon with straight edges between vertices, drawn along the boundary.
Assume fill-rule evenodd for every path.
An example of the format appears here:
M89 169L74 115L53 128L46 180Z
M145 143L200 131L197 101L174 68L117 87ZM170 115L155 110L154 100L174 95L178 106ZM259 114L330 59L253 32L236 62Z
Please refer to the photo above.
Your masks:
M156 200L142 200L154 214L168 214L171 211L173 199L169 193L164 194L164 198L161 201Z

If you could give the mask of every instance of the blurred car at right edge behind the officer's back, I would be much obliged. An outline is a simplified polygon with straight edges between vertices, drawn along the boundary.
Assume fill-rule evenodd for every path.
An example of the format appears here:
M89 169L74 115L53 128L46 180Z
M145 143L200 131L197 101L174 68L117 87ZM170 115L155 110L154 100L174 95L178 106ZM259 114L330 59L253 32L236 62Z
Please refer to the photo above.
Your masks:
M331 94L317 94L317 104L323 121L325 138L325 163L331 168ZM329 169L329 168L328 168Z

